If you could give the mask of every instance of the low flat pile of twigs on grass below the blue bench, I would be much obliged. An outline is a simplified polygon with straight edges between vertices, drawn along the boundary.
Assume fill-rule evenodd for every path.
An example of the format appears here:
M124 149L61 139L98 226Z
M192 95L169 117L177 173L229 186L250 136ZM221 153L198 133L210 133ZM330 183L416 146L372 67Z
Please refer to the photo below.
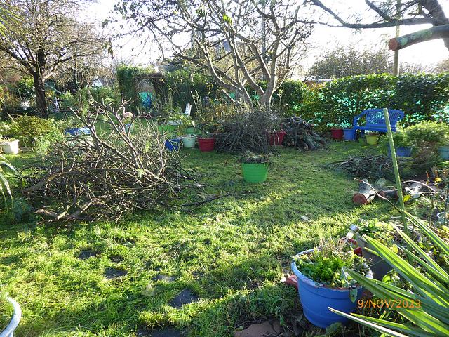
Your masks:
M344 171L351 178L394 178L391 157L370 152L359 153L359 156L349 157L342 161L334 161L327 166ZM410 174L413 159L408 157L398 157L397 159L401 176Z

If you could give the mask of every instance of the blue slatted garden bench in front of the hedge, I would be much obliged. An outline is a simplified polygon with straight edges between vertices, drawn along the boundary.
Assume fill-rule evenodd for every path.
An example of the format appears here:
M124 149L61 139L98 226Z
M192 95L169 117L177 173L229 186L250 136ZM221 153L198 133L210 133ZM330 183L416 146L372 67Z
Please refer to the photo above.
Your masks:
M389 109L389 120L391 131L396 131L396 124L404 117L404 112L401 110ZM366 123L358 125L359 119L365 117ZM385 123L385 115L383 109L368 109L363 110L361 114L354 117L354 125L352 126L352 139L356 139L357 130L368 130L374 132L387 132L387 124Z

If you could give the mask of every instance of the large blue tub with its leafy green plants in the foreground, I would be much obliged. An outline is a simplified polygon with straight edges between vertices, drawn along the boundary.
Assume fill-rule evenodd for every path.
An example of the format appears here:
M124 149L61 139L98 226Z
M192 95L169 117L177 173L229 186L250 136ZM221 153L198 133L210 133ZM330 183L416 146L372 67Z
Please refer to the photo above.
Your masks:
M373 278L363 258L356 256L354 250L341 240L321 240L319 248L293 256L291 267L297 277L304 316L321 328L348 322L346 317L329 308L351 313L361 299L363 287L349 276L347 270Z

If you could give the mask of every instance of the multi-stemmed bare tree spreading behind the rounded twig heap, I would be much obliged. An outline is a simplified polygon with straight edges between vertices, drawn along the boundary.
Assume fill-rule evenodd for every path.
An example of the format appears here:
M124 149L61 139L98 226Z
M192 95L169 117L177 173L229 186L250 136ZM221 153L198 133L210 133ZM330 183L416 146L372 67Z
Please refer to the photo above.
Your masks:
M234 101L248 105L246 86L269 106L311 34L300 18L306 8L292 0L123 0L116 9L136 31L152 34L165 60L208 70L226 93L236 93Z

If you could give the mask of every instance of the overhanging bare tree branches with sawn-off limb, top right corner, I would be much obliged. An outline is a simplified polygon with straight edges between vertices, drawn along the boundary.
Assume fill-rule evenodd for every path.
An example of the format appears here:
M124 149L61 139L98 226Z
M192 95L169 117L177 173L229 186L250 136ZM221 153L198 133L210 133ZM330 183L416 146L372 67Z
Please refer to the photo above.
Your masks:
M353 1L362 2L361 0ZM320 23L332 27L354 29L430 24L433 27L429 29L391 39L389 48L391 50L398 50L422 41L443 39L446 48L449 49L449 19L445 15L443 7L438 0L365 0L368 13L363 15L363 18L361 15L356 15L352 11L342 11L342 9L347 8L347 3L338 4L334 1L332 6L329 6L327 4L328 2L307 0L308 4L321 8L321 10L326 11L335 19L333 21L334 23L324 21Z

